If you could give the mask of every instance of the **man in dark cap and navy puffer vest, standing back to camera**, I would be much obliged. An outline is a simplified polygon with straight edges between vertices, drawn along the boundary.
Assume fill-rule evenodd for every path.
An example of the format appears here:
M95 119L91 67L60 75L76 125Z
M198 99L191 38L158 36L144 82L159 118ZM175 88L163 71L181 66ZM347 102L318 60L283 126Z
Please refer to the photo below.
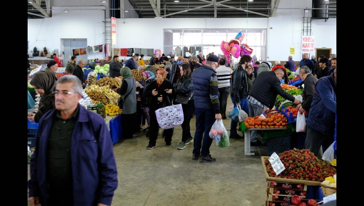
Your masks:
M209 132L215 119L221 120L218 82L215 71L218 62L219 58L216 55L210 55L206 59L205 65L195 69L192 73L196 112L196 131L192 159L201 158L200 162L216 161L210 155L212 139Z

